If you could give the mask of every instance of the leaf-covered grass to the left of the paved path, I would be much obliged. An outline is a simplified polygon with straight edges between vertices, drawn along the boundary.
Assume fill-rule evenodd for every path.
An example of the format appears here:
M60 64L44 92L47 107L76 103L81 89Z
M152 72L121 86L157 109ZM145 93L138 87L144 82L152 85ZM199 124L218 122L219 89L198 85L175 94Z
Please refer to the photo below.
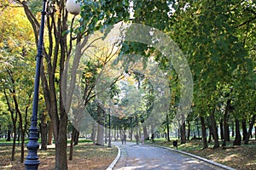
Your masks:
M20 147L16 147L15 161L10 161L11 145L0 145L0 169L25 169L20 163ZM67 149L68 156L69 147ZM106 169L117 156L114 146L96 146L91 142L82 142L73 148L73 161L68 161L68 169ZM26 151L27 154L27 151ZM55 167L55 148L38 150L40 165L38 169L51 170Z

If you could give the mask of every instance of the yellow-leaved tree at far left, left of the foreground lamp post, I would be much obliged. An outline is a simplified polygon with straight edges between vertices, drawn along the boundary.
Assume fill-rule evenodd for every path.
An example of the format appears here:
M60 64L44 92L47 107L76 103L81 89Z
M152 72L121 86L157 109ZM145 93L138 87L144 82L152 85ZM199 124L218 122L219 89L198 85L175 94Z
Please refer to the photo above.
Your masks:
M28 126L28 110L32 100L32 69L33 37L29 22L21 8L16 8L14 3L4 3L0 25L1 29L1 91L9 107L14 127L14 144L12 159L15 156L16 122L21 136L20 162L24 161L24 142ZM9 10L13 12L10 14Z

